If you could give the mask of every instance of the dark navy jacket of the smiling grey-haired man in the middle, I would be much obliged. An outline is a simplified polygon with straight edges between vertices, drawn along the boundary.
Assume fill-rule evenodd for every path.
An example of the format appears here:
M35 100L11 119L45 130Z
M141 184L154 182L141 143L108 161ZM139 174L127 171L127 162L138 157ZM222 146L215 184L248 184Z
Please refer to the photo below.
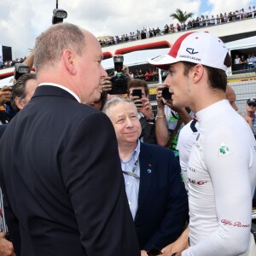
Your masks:
M140 187L134 222L141 249L166 247L182 233L188 198L172 150L141 143Z

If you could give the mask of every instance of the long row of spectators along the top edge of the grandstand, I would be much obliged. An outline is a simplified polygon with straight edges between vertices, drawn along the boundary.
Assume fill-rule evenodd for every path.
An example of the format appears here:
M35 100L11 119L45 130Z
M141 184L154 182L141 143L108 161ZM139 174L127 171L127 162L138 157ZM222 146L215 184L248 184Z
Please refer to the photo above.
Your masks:
M156 36L161 36L168 33L180 32L189 29L196 29L203 26L214 26L220 25L226 22L232 22L237 20L245 20L248 18L256 17L256 9L255 6L249 6L248 9L241 9L236 11L225 12L219 15L201 15L201 17L196 17L195 19L188 20L187 22L181 22L175 24L166 24L162 29L159 27L155 28L143 28L143 30L137 30L137 32L130 32L130 34L123 34L121 36L115 36L112 38L108 38L106 40L99 40L102 47L112 45L112 44L120 44L126 43L129 41L140 40L145 38L152 38Z

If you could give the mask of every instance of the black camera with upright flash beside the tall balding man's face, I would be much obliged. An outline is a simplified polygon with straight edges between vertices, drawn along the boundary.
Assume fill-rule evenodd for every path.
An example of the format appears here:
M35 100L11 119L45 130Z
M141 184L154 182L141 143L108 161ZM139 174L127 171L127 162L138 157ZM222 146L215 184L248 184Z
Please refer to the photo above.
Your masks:
M122 73L124 56L114 55L113 65L116 75L113 76L110 81L112 82L112 90L108 91L108 94L125 94L127 93L127 77Z

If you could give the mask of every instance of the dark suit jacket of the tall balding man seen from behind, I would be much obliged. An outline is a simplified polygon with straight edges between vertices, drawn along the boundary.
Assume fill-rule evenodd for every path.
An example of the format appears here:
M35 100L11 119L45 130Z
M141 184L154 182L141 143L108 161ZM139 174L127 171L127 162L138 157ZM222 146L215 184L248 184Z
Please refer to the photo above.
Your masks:
M66 90L39 86L0 143L18 255L140 255L107 115Z

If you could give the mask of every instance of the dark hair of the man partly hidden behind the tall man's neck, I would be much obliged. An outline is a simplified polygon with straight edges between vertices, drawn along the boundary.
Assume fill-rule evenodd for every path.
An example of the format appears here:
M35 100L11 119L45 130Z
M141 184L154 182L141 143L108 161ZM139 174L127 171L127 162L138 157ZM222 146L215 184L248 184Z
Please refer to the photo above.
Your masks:
M15 103L15 98L20 97L20 99L26 98L26 82L30 79L37 79L36 73L25 73L23 74L17 82L14 84L12 88L12 98L11 98L11 106L15 110L15 112L19 112L20 108L17 107Z

